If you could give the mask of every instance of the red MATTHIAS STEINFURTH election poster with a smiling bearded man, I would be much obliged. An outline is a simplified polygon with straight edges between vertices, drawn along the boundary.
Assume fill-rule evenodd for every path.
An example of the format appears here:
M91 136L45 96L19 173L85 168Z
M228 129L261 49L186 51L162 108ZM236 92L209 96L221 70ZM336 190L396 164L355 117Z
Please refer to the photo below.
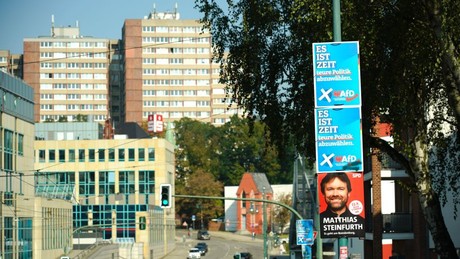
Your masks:
M361 172L317 174L322 238L364 237Z

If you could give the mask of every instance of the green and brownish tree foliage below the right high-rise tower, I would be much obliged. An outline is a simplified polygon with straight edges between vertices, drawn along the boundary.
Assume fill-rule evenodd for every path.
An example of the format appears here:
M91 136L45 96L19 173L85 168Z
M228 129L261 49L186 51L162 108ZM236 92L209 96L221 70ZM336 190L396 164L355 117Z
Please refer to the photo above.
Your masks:
M263 123L248 124L237 116L221 127L189 118L177 121L176 193L221 197L223 186L239 185L245 172L265 173L272 184L291 183L293 159L280 162ZM177 211L181 217L201 211L205 219L222 215L221 201L200 202L203 207L197 210L197 201L177 199Z

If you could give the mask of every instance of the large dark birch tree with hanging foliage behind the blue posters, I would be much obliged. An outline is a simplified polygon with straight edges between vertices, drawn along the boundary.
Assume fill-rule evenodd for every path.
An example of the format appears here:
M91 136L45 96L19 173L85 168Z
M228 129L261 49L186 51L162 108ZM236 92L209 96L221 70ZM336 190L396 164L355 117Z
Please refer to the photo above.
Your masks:
M365 143L405 167L436 252L457 258L441 205L446 190L455 204L460 192L460 4L342 2L342 39L360 42ZM213 0L195 3L234 100L276 132L274 143L295 143L314 161L311 45L332 39L331 2L229 1L225 12ZM393 126L394 143L372 134L379 120Z

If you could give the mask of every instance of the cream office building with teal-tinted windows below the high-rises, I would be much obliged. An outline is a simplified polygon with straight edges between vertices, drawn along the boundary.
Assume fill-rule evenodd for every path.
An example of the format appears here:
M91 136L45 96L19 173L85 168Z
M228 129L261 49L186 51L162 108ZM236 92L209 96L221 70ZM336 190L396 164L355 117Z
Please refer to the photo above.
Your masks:
M136 247L144 258L158 258L174 248L174 206L158 205L160 184L174 186L167 140L37 140L34 168L37 195L73 202L74 232L97 228L119 244L119 256Z

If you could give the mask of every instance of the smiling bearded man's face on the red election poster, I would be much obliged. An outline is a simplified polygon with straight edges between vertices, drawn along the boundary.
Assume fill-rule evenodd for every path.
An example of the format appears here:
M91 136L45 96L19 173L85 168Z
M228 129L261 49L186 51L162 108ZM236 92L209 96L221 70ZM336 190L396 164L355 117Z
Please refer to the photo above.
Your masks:
M349 196L347 184L339 178L330 180L324 186L324 199L328 207L336 213L345 211Z

